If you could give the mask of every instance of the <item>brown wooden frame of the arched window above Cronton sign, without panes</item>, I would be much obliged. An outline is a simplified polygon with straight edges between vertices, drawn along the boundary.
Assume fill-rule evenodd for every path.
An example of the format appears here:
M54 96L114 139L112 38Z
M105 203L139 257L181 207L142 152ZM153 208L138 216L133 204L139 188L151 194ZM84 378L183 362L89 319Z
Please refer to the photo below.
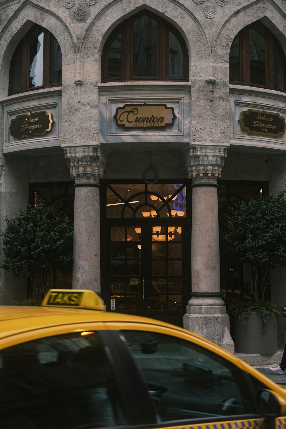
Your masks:
M142 16L148 16L157 22L157 76L132 76L133 70L133 22ZM182 77L169 77L169 31L171 31L178 42L181 45L183 51L183 74ZM108 79L107 76L107 54L108 49L113 42L117 34L121 34L121 77L118 79ZM133 15L131 18L124 21L122 24L117 26L115 30L110 34L105 42L102 51L102 69L101 76L102 82L127 82L127 81L154 81L154 80L166 80L166 81L185 81L188 82L189 68L188 68L189 56L187 47L184 40L178 30L175 29L171 24L166 22L164 19L152 14L146 10Z

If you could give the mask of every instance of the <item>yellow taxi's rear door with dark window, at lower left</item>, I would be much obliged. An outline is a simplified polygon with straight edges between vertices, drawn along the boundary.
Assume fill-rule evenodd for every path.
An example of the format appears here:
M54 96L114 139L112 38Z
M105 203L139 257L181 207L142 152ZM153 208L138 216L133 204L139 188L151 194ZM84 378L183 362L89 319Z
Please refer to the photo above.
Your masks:
M1 429L154 423L131 356L117 351L102 323L51 326L2 339Z

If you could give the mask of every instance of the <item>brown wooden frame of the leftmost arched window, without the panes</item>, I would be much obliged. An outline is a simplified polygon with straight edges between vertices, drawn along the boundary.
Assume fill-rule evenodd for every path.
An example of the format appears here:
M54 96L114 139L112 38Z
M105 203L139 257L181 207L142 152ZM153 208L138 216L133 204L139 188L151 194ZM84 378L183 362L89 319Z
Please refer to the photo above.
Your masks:
M30 87L30 76L29 76L29 63L30 63L30 37L32 34L39 30L44 33L44 47L43 47L43 84L37 87ZM9 95L17 94L26 91L34 91L42 88L49 88L53 86L59 86L62 82L52 82L53 78L53 41L57 39L45 28L39 25L33 25L33 27L25 34L21 42L18 44L15 52L12 56L9 71ZM58 42L57 42L58 43ZM22 61L21 61L21 91L14 91L14 73L15 73L15 60L18 56L19 51L22 50Z

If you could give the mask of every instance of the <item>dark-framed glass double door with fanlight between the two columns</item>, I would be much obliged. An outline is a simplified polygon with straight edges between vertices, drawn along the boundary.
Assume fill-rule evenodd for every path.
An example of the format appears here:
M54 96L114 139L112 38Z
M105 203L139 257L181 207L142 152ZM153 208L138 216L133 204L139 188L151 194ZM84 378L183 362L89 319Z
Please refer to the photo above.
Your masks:
M186 189L186 184L107 185L107 309L181 326L189 266L184 260L190 252Z

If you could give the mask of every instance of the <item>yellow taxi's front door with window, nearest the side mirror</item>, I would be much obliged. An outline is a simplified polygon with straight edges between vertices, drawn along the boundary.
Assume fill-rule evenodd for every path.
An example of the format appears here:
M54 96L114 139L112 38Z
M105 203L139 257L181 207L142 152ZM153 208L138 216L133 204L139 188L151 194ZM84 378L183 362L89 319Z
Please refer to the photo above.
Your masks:
M162 326L129 323L119 330L116 324L109 324L109 329L114 342L119 338L129 350L145 381L158 419L148 427L231 429L264 425L259 391L269 387L259 380L253 383L247 372L211 347L203 347L199 339L190 341L183 333L176 335L175 330ZM275 407L268 408L274 413ZM285 416L280 415L279 424L285 423Z

